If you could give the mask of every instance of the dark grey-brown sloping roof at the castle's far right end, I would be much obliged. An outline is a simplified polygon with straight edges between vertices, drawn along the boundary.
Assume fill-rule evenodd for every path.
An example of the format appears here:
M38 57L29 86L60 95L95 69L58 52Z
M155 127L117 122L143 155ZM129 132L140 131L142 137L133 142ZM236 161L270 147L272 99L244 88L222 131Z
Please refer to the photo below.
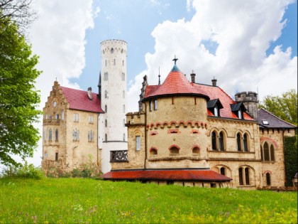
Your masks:
M267 128L297 128L293 124L285 122L283 119L276 117L262 108L258 110L258 123L260 126Z

